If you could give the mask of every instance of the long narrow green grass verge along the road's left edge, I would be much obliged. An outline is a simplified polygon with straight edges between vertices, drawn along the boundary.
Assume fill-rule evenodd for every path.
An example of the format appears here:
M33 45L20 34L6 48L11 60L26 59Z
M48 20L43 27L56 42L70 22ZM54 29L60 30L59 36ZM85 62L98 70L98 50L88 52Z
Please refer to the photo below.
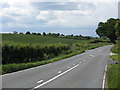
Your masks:
M36 67L36 66L40 66L40 65L44 65L44 64L48 64L48 63L52 63L55 61L59 61L61 59L64 58L68 58L80 53L83 53L85 50L90 50L90 49L94 49L100 46L104 46L104 45L109 45L108 43L101 43L101 44L91 44L89 46L85 46L84 48L80 49L73 49L73 52L67 55L59 55L58 57L49 59L49 60L43 60L43 61L37 61L37 62L29 62L29 63L19 63L19 64L6 64L6 65L2 65L2 74L7 74L7 73L12 73L12 72L16 72L19 70L24 70L24 69L28 69L28 68L32 68L32 67Z

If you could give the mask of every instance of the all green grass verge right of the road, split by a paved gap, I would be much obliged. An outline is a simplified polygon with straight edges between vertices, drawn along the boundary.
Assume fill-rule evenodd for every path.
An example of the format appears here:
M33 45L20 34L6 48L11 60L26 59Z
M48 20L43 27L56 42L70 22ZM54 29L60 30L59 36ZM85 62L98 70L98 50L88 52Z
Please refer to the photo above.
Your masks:
M113 53L116 53L117 55L111 55L110 58L112 58L113 60L120 61L118 48L119 48L119 45L117 44L111 48L111 51ZM110 90L113 88L120 89L120 64L108 65L107 84Z

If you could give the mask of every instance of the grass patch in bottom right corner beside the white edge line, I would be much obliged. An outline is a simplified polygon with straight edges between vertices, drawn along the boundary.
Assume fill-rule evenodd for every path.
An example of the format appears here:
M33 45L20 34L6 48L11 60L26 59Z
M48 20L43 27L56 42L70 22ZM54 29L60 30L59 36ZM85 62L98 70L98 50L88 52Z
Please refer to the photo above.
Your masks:
M108 88L111 90L112 88L120 88L120 64L110 64L108 65L107 71L107 84Z

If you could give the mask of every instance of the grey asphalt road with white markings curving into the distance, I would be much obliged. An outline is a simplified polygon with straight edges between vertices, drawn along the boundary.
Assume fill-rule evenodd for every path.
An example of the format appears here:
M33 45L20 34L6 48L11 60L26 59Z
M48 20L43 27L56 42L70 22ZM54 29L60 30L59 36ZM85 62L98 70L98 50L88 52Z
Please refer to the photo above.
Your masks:
M54 63L2 75L2 88L102 88L110 48L111 45L107 45Z

